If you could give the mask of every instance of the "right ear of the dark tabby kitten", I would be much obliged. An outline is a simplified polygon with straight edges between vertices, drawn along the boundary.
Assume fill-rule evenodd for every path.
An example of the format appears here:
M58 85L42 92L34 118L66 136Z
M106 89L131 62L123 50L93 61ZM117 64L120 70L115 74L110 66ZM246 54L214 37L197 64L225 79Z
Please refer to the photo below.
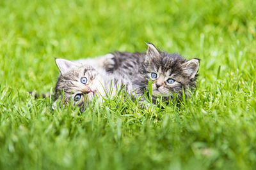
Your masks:
M187 74L190 79L195 78L199 68L199 62L199 59L191 59L182 64L183 72Z

